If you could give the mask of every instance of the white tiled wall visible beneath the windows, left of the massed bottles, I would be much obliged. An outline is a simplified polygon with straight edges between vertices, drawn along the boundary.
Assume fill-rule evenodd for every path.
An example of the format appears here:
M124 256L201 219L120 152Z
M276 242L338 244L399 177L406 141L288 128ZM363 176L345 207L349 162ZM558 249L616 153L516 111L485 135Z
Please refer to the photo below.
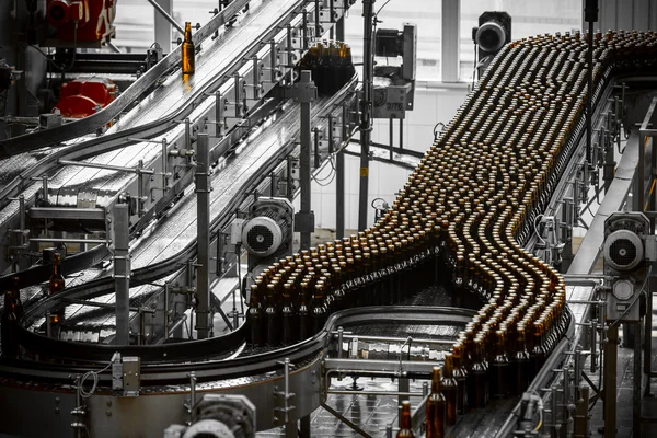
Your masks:
M434 126L438 122L447 124L465 100L464 84L450 88L418 84L415 92L415 110L406 113L404 120L404 148L424 152L434 142ZM394 146L399 146L399 122L394 123ZM389 122L374 120L372 141L389 143ZM359 159L345 157L345 228L358 228ZM335 181L331 182L333 169L328 165L312 183L312 209L315 212L318 228L335 228ZM411 171L377 161L370 162L369 203L383 198L392 203L395 193L407 181ZM330 184L328 184L330 183ZM368 226L374 222L374 210L369 209Z

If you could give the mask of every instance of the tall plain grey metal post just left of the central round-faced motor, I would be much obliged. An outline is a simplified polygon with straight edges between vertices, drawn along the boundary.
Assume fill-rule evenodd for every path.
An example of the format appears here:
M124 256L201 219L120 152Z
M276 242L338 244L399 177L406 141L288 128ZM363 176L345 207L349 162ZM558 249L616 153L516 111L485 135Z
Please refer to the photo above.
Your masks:
M207 134L199 134L196 165L196 253L198 270L196 290L196 331L199 339L208 337L210 309L210 150Z

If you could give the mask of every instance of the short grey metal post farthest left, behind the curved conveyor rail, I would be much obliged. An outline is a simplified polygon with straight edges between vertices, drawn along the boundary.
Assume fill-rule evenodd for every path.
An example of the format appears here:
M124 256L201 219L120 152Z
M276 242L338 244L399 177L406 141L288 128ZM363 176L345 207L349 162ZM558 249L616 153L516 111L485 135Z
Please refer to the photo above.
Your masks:
M116 290L116 344L130 343L130 253L127 204L114 206L114 288Z

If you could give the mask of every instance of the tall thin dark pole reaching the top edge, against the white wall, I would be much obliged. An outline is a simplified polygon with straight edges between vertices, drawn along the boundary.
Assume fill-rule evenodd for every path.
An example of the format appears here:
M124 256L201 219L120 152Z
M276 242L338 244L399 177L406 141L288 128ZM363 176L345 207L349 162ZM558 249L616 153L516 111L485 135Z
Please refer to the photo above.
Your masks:
M373 9L376 0L362 0L362 101L360 112L360 194L358 231L367 228L369 189L369 145L372 135L371 105L374 81Z

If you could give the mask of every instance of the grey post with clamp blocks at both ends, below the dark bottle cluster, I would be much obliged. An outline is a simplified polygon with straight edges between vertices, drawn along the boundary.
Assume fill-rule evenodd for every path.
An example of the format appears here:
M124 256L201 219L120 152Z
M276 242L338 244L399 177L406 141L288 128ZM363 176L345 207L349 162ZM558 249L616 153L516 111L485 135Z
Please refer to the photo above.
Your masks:
M299 212L295 218L295 231L300 232L301 250L310 249L310 235L314 231L314 215L311 210L311 154L312 154L312 126L311 105L316 99L315 88L311 72L301 71L301 79L295 85L295 100L301 106L301 153L299 154L299 176L301 185L301 203Z

